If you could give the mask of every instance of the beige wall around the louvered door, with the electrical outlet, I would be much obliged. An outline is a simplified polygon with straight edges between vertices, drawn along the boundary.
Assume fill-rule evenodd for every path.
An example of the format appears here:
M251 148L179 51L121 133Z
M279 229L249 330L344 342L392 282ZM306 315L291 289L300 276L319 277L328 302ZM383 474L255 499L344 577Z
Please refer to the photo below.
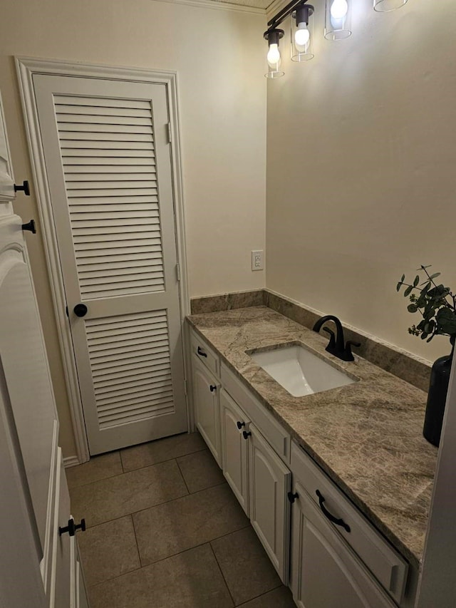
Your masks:
M151 0L3 0L0 90L16 180L31 179L12 56L175 70L190 295L264 287L264 16ZM14 208L29 220L36 201ZM27 237L65 456L76 453L41 236Z

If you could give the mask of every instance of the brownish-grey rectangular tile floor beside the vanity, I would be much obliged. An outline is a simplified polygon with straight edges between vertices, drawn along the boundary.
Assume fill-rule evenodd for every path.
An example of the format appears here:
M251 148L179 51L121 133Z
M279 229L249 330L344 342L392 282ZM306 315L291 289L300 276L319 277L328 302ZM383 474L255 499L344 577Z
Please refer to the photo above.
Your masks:
M295 608L198 433L66 473L90 608Z

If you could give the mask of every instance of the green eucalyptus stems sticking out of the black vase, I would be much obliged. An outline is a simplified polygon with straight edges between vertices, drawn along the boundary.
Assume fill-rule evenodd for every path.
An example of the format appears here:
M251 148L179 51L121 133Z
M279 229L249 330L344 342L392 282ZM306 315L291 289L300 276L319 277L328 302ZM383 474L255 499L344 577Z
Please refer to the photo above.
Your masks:
M408 333L420 336L422 340L430 342L434 336L450 336L454 344L456 336L456 295L449 287L437 284L435 279L440 277L440 272L430 274L427 269L430 266L421 265L418 268L412 283L405 282L405 274L400 277L396 286L399 292L405 287L404 296L410 299L407 310L412 313L419 312L423 319L416 325L408 328ZM424 278L424 280L423 280Z

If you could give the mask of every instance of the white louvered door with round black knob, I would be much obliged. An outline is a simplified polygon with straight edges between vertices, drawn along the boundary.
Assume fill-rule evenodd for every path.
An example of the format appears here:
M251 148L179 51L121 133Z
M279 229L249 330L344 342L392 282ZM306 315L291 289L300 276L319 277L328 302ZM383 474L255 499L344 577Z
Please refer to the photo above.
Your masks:
M166 88L33 84L90 453L186 431Z

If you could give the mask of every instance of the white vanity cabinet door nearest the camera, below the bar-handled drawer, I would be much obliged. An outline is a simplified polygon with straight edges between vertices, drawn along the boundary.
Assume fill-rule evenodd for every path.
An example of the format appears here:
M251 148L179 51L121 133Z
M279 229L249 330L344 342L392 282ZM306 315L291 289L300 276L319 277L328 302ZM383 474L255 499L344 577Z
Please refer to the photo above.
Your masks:
M295 486L291 589L299 608L394 608L306 490Z

